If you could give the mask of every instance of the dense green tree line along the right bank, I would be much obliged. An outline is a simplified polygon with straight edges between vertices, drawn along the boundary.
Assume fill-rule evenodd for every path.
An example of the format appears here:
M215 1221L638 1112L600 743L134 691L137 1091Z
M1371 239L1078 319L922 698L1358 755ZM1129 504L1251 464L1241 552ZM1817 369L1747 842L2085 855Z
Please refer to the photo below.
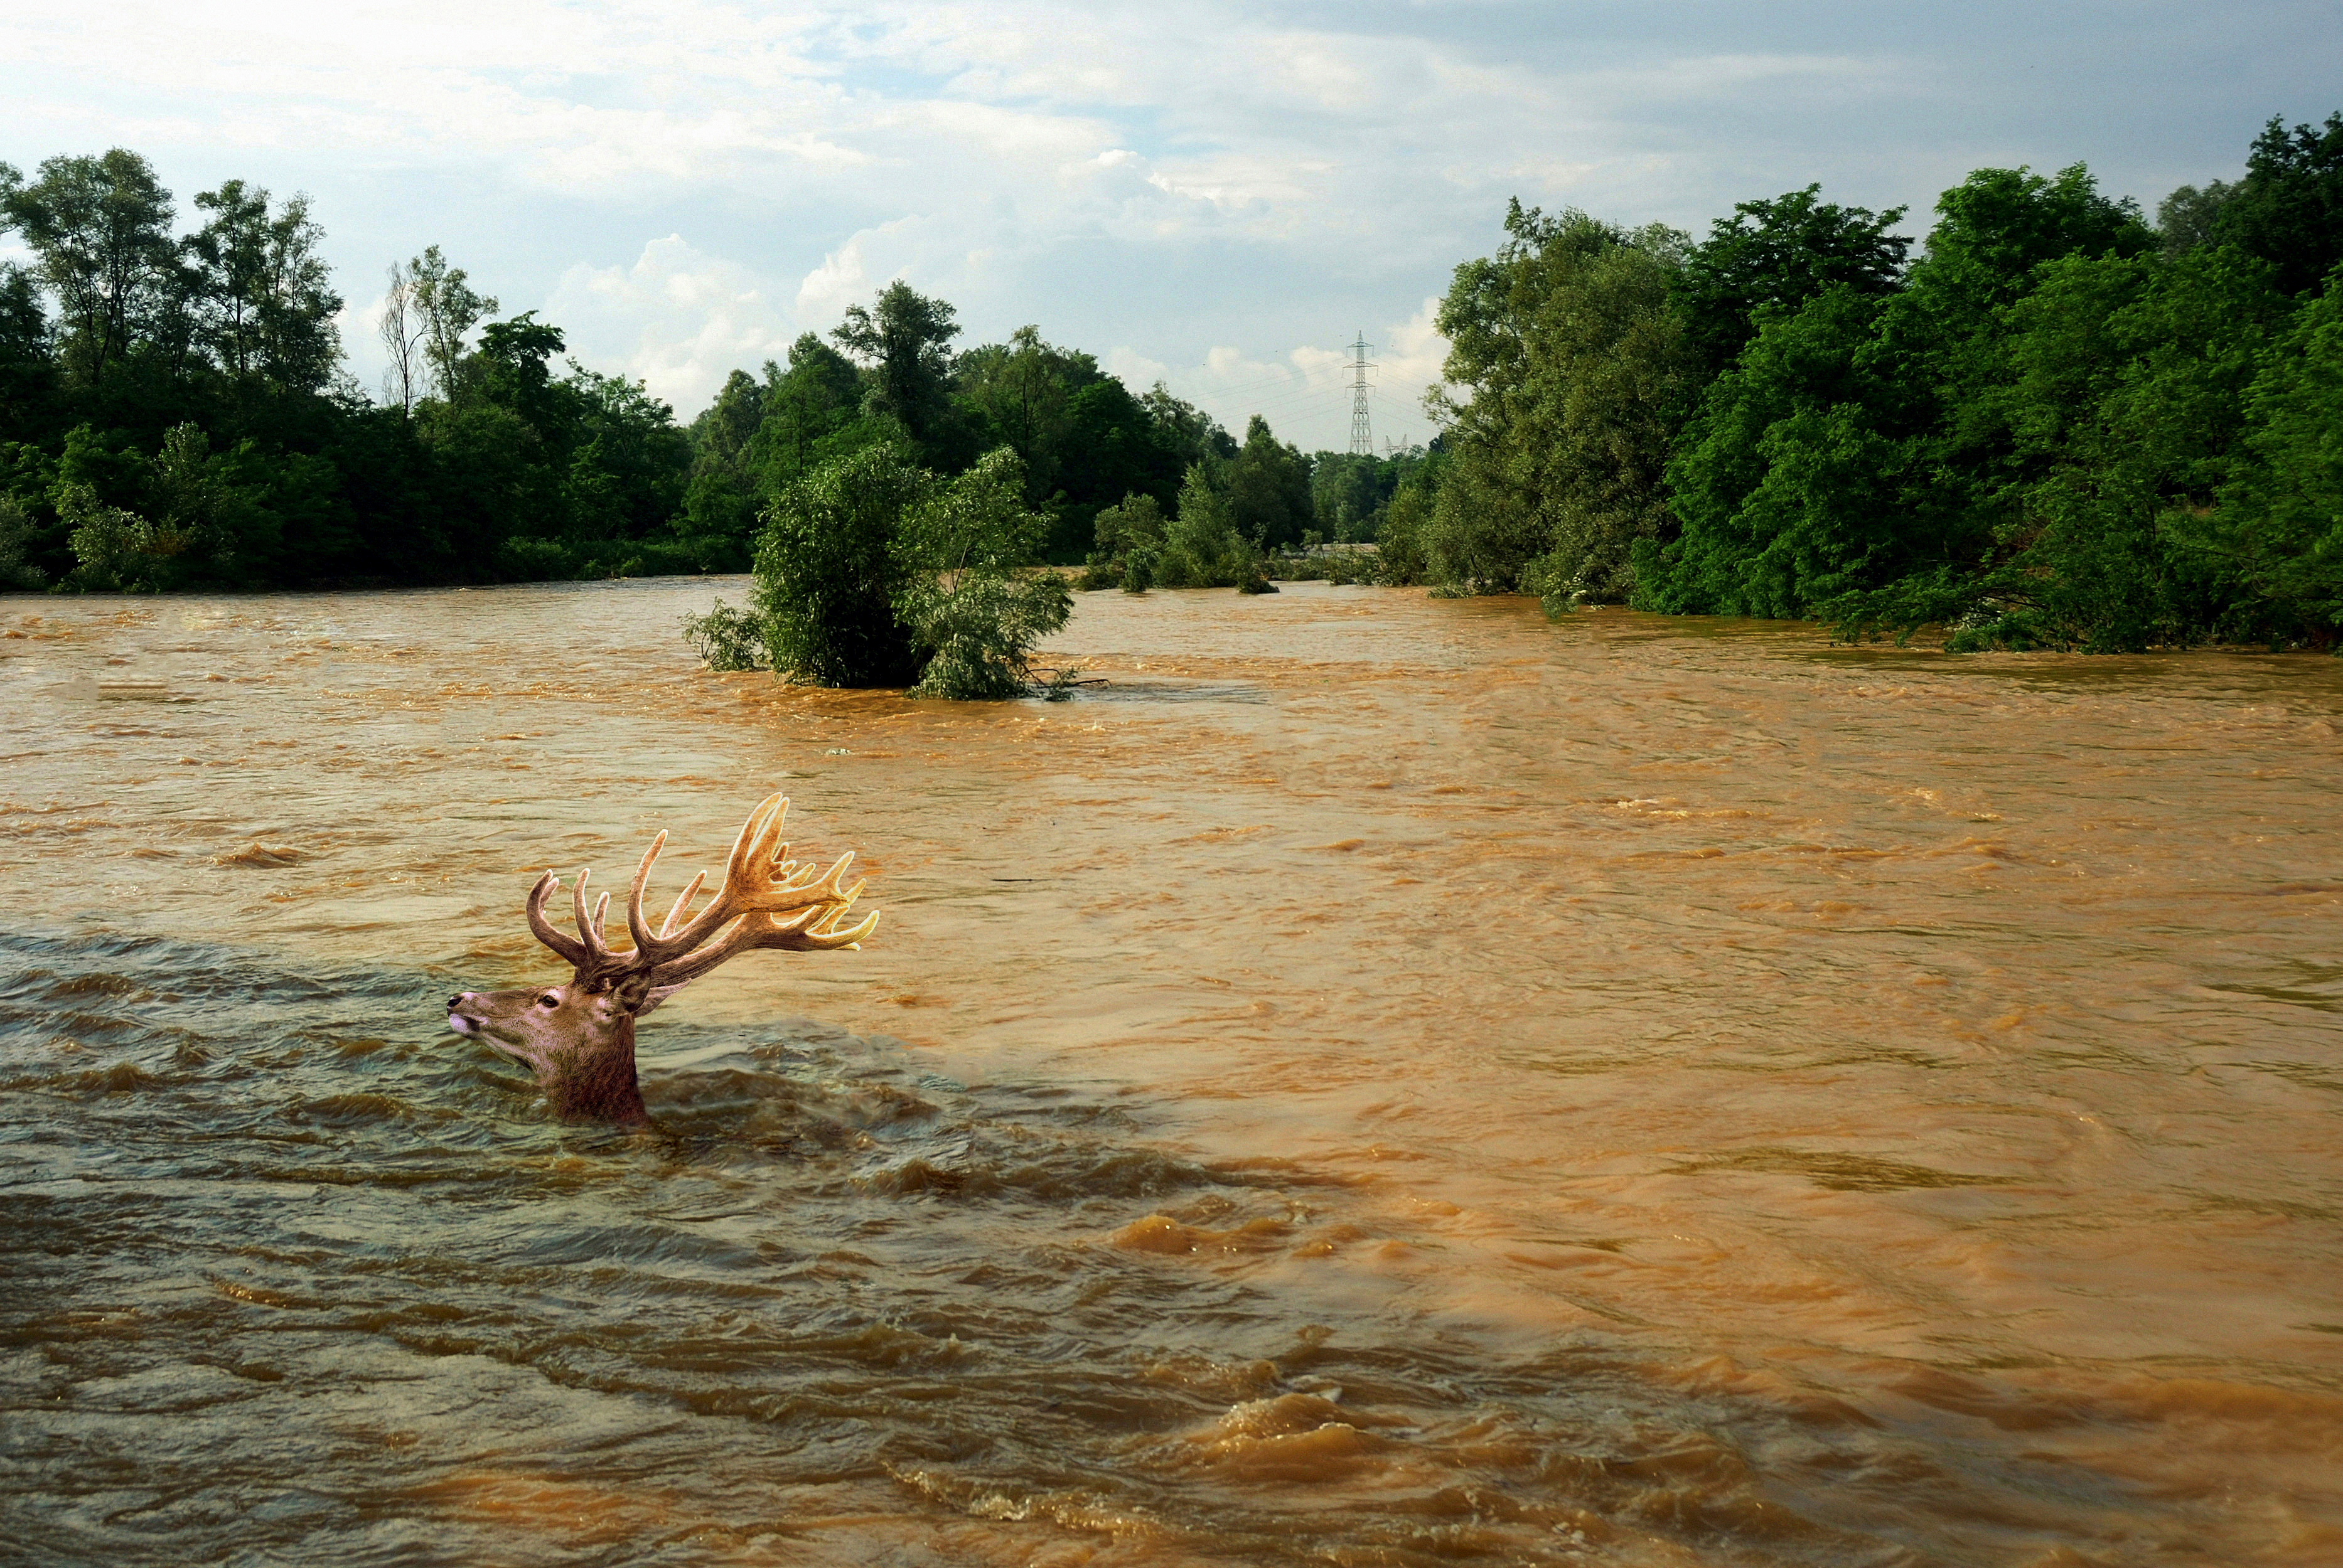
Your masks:
M2343 115L2153 223L2081 164L1970 173L1917 255L1903 218L1809 185L1694 241L1516 202L1441 307L1446 462L1387 574L1961 649L2336 647Z

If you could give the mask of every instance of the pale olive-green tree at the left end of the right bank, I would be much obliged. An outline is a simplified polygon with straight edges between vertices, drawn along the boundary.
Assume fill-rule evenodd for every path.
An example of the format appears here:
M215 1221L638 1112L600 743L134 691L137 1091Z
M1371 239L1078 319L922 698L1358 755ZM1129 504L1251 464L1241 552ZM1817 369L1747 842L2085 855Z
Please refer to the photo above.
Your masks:
M1518 202L1495 258L1441 302L1453 464L1425 555L1457 593L1539 591L1549 605L1633 591L1633 546L1673 532L1664 471L1699 391L1671 286L1685 237L1626 232Z

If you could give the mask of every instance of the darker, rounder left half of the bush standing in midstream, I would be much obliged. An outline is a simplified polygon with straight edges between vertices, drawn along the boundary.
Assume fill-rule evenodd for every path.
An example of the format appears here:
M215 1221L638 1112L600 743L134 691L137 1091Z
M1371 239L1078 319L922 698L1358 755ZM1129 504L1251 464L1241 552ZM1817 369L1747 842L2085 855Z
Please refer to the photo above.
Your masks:
M886 443L836 457L773 497L757 539L754 609L776 670L820 687L909 687L921 661L900 605L897 548L935 476Z

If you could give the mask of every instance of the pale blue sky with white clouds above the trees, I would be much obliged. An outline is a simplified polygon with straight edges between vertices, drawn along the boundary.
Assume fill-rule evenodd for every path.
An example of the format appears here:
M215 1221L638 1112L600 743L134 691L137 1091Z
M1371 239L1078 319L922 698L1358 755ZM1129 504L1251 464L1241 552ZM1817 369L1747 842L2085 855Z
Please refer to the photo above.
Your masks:
M1450 270L1509 197L1694 234L1821 183L1912 209L2088 162L2151 213L2343 108L2343 0L424 0L0 12L0 162L124 145L192 206L309 192L380 382L391 260L689 420L890 279L1242 434L1422 441ZM12 241L0 237L0 253Z

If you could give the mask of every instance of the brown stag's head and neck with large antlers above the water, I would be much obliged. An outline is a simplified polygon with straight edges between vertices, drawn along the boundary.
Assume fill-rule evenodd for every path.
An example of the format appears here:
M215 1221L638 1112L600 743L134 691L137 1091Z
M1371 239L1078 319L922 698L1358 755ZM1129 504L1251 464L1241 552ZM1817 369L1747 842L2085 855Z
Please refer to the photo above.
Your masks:
M555 1116L574 1123L616 1123L628 1130L651 1125L635 1076L635 1024L642 1015L682 991L686 984L754 947L787 952L825 952L860 947L879 928L879 914L865 914L846 926L862 884L843 886L853 851L839 855L820 877L811 863L790 860L780 841L780 823L790 811L785 795L764 797L733 839L724 863L724 881L698 914L708 872L701 872L677 895L668 919L654 930L642 912L651 865L668 844L661 830L635 867L635 886L626 895L626 930L630 949L612 949L602 933L609 893L586 909L586 879L569 886L576 935L565 933L546 914L546 902L562 879L546 872L530 888L530 930L569 963L569 984L525 987L515 991L459 991L448 998L448 1027L480 1041L537 1073Z

